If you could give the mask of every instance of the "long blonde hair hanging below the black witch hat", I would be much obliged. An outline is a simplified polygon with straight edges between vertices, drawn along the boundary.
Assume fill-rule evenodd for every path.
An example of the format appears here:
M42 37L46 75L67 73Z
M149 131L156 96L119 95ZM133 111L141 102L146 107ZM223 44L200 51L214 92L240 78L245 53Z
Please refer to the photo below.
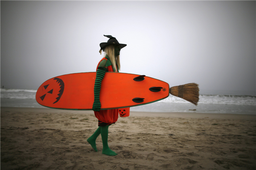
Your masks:
M105 52L105 55L108 55L108 57L110 58L110 61L112 63L113 69L115 72L117 71L116 65L118 66L118 69L120 70L120 58L119 55L115 57L115 46L110 45L110 46L106 46L106 48L103 50ZM99 50L99 53L102 54L102 49Z

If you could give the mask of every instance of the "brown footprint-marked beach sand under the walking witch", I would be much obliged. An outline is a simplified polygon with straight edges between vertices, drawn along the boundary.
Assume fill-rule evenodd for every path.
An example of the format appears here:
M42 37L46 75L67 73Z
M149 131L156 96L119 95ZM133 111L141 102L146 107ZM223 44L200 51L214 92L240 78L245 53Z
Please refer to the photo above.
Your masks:
M131 112L109 127L109 147L86 139L92 111L1 107L1 170L255 170L256 116Z

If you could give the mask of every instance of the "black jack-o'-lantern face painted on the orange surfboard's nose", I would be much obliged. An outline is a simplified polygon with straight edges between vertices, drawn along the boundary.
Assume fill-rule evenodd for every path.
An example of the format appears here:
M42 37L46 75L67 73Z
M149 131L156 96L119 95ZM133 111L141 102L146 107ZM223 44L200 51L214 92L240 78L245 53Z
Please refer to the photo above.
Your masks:
M64 92L64 82L60 78L53 78L42 84L41 88L42 90L38 94L37 100L40 103L55 104L60 100Z

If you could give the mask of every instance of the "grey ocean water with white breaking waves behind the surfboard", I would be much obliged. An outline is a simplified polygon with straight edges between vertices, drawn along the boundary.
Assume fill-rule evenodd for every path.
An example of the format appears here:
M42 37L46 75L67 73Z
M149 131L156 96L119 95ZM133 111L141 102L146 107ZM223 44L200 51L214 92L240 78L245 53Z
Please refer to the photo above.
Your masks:
M1 89L1 107L43 107L35 100L36 90ZM137 112L198 112L256 115L256 96L200 95L198 106L181 98L168 98L151 104L131 107Z

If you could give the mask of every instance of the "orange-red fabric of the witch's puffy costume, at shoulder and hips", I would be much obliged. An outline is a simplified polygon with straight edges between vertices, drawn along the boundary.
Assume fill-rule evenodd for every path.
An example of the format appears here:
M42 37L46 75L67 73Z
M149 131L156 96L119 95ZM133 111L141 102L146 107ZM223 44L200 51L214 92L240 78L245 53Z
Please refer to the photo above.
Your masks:
M107 58L102 58L102 60L107 60ZM99 61L99 63L101 61ZM98 69L98 67L99 67L99 64L97 66L97 69ZM107 72L114 72L112 65L108 66ZM109 96L109 97L111 97L111 96ZM102 122L107 123L107 124L113 124L118 119L118 115L119 115L118 111L119 111L118 109L100 110L99 112L94 111L94 115L99 121L102 121Z

